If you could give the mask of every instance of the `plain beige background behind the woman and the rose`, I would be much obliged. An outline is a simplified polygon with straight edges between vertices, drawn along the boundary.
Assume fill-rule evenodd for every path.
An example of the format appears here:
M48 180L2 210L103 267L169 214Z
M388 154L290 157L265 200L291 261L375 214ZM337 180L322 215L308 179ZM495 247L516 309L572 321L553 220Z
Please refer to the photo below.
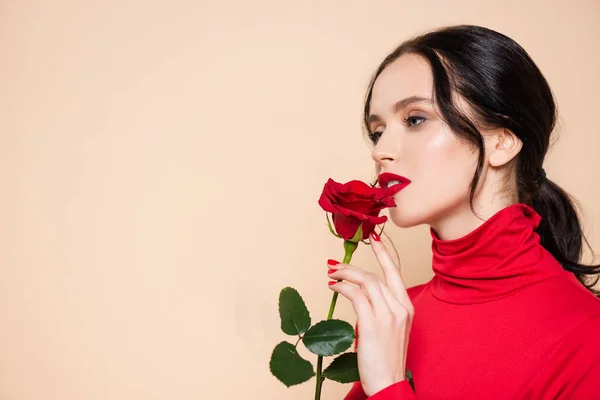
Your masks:
M546 74L546 170L599 249L598 0L0 1L0 399L312 398L268 371L279 290L325 317L342 249L317 199L372 177L368 78L454 23ZM388 228L428 280L428 229ZM368 248L354 263L377 270Z

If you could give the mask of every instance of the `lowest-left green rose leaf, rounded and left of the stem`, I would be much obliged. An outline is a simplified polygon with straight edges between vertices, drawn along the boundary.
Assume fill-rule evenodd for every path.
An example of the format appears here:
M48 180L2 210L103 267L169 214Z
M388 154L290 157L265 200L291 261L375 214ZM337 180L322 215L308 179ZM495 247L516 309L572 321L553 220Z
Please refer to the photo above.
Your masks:
M315 375L310 361L300 357L296 346L288 342L281 342L275 346L269 369L275 378L287 387L306 382Z

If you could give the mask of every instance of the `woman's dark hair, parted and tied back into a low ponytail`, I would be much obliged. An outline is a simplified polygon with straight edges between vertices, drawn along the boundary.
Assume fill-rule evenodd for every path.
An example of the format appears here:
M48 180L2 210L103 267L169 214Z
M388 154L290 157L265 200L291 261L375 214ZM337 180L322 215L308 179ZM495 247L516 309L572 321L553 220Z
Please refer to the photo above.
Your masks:
M479 149L478 165L470 185L473 197L484 164L483 138L477 126L506 128L521 141L516 157L517 190L520 203L532 206L542 217L537 233L541 243L565 270L596 296L600 291L588 284L586 275L600 273L600 266L580 264L583 234L575 200L542 175L542 164L554 129L557 110L552 91L527 52L514 40L493 30L471 25L438 29L407 40L381 63L369 84L363 124L371 134L370 115L373 85L381 72L403 54L428 60L433 73L433 98L442 119L461 139ZM456 95L469 104L471 120L455 103ZM578 206L579 207L579 206Z

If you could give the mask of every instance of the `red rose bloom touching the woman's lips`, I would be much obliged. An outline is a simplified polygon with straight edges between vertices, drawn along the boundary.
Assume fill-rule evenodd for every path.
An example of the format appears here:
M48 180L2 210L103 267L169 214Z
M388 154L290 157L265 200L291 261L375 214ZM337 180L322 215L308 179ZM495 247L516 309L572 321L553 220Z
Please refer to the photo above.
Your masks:
M394 198L386 189L371 187L361 181L338 183L329 179L319 198L323 210L332 213L338 235L349 240L356 235L362 224L362 239L369 237L375 225L387 221L379 212L395 207Z

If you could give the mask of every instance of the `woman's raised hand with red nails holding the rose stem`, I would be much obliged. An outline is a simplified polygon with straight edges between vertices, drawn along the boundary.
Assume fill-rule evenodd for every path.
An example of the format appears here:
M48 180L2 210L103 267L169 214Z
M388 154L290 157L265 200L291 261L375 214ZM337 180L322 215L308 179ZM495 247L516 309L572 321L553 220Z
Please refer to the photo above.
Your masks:
M383 269L383 282L349 264L328 265L329 277L343 280L330 282L329 287L352 302L358 318L358 371L367 396L406 379L406 350L414 316L400 269L374 232L371 248Z

